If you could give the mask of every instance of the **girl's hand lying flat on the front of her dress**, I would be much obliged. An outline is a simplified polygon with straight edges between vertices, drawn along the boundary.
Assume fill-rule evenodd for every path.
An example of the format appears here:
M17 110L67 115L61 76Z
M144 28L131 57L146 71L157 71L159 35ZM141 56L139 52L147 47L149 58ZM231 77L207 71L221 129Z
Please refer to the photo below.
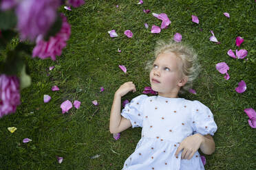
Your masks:
M192 136L186 137L182 143L180 143L175 156L178 156L180 151L183 149L181 158L190 160L195 152L200 148L203 138L204 136L201 134L193 134Z

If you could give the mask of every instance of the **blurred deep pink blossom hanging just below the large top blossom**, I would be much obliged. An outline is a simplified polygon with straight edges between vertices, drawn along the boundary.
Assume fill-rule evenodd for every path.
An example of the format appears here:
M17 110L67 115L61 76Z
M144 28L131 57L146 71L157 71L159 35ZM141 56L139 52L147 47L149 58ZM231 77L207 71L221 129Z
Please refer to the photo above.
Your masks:
M38 56L41 59L51 57L52 60L56 60L56 56L61 56L62 49L66 47L66 41L70 38L71 28L67 23L67 18L61 14L62 27L61 31L55 36L51 36L50 40L43 40L43 36L38 36L36 39L36 47L33 49L32 57Z

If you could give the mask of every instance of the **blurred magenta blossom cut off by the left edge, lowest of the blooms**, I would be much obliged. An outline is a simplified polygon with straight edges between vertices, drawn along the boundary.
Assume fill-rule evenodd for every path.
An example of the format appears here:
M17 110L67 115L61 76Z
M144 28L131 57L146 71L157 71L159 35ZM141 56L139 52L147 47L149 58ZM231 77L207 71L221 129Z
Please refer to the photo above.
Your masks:
M17 106L21 104L20 99L18 77L0 75L0 118L16 112Z

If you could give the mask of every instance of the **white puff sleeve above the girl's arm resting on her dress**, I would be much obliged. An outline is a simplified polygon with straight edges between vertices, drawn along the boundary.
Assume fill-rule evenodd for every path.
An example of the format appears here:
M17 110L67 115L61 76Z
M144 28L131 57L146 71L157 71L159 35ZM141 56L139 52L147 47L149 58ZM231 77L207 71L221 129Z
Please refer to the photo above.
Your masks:
M217 125L213 119L213 113L200 101L193 101L193 106L192 124L194 134L211 134L211 136L213 136L217 131Z

